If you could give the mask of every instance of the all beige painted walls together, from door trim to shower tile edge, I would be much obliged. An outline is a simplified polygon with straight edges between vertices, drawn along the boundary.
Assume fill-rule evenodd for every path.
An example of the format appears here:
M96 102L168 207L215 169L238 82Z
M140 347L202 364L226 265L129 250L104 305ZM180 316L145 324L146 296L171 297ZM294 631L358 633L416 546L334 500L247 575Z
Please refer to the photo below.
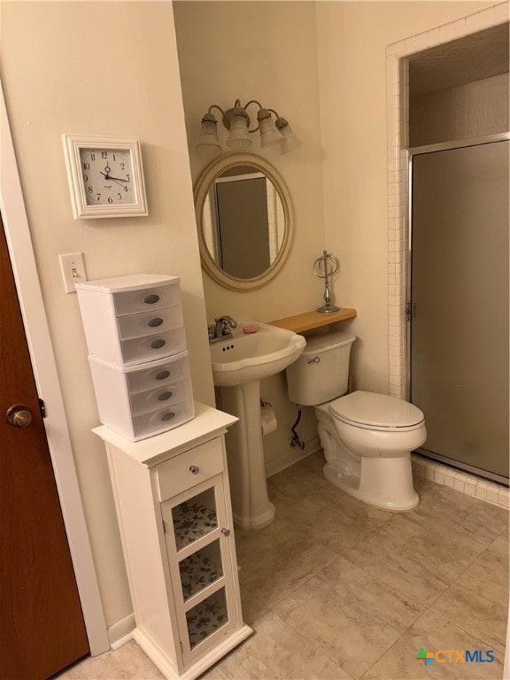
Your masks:
M362 339L357 384L386 391L384 50L489 4L176 3L191 143L207 107L230 106L236 97L277 109L304 142L284 157L264 154L286 178L296 208L288 266L251 293L224 290L205 275L207 314L171 5L1 5L1 77L108 625L131 605L104 450L89 433L98 420L81 321L75 296L63 291L58 253L83 251L89 278L181 276L195 396L212 403L206 316L268 321L321 304L312 264L326 245L341 261L337 302L359 309L351 326ZM140 137L149 217L73 220L62 133ZM205 162L192 150L190 164L196 181ZM282 376L264 390L281 420L266 439L274 460L287 451L295 413ZM313 434L313 420L300 428Z

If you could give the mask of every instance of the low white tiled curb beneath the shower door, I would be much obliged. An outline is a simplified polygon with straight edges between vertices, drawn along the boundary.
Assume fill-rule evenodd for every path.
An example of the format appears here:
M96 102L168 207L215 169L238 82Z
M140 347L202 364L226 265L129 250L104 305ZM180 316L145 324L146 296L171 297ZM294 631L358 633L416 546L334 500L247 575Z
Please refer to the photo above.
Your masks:
M454 470L436 461L425 460L415 453L411 454L411 462L413 474L418 477L429 479L443 486L449 486L455 491L474 496L486 503L491 503L493 506L504 507L506 510L510 507L510 490L499 484Z

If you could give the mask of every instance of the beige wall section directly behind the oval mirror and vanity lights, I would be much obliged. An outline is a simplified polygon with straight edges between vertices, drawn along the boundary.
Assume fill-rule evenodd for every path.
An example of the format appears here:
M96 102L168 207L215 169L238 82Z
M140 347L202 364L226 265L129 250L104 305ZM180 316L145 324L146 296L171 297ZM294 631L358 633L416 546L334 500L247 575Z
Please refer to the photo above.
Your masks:
M323 285L312 267L324 243L315 4L191 0L175 2L174 15L194 182L208 163L195 144L211 104L227 109L236 98L243 104L258 99L287 118L303 142L284 156L277 147L261 151L257 140L251 149L282 174L290 189L296 235L287 264L263 288L242 293L222 288L204 274L207 316L213 320L227 313L271 321L311 310L322 304ZM256 122L257 108L248 112ZM220 134L225 139L224 130ZM287 398L284 374L264 381L261 390L279 421L277 431L264 440L267 471L272 472L300 453L289 447L297 409ZM312 412L298 430L304 439L316 436Z

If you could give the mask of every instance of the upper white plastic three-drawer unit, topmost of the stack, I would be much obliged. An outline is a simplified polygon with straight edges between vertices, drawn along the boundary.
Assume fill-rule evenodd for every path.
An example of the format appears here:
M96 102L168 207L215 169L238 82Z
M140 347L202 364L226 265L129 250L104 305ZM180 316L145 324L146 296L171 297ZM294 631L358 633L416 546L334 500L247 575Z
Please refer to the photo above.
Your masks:
M179 277L118 276L76 292L90 357L128 366L186 349Z

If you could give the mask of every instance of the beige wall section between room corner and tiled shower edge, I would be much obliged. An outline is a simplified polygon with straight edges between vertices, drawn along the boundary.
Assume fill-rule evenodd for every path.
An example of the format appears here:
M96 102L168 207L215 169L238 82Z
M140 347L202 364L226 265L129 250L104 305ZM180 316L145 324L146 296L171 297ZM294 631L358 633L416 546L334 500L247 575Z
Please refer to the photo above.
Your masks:
M389 390L386 47L491 4L317 3L326 247L342 261L334 290L358 309L358 389Z

